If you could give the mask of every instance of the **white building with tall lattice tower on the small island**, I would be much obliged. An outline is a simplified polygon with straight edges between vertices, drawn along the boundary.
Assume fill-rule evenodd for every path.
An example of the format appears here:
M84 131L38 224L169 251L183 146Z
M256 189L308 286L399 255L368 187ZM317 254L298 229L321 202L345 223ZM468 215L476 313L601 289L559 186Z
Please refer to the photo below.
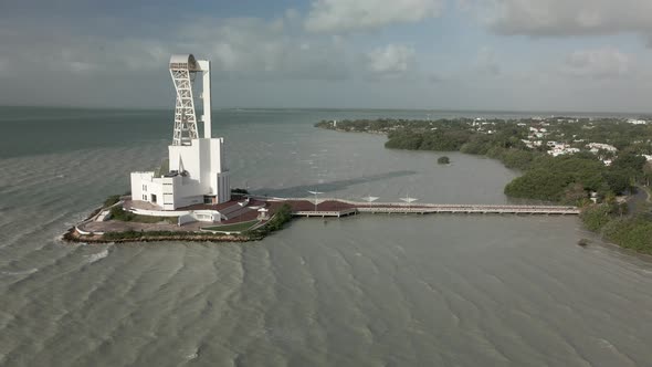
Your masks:
M194 76L201 74L203 138L199 137ZM224 138L211 136L210 62L190 55L172 55L170 75L177 91L175 130L168 146L169 171L132 172L132 199L147 201L164 210L196 203L231 200L229 170L224 164Z

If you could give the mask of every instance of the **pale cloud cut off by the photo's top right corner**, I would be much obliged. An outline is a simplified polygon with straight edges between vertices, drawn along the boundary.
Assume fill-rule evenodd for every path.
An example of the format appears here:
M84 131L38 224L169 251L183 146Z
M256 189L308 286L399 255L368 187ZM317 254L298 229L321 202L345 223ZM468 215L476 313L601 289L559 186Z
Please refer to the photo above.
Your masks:
M502 34L652 33L650 0L475 0L474 6L488 25Z

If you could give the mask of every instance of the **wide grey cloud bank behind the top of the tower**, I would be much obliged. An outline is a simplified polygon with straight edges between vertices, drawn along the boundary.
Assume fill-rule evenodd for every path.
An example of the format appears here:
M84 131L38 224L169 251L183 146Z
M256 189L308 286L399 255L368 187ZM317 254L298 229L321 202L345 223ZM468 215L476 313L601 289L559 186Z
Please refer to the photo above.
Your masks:
M203 19L157 39L98 33L104 34L61 23L29 29L0 23L0 44L12 50L1 55L0 69L11 65L17 76L158 73L170 54L192 52L212 61L218 78L336 80L346 77L351 64L340 40L290 34L283 19Z

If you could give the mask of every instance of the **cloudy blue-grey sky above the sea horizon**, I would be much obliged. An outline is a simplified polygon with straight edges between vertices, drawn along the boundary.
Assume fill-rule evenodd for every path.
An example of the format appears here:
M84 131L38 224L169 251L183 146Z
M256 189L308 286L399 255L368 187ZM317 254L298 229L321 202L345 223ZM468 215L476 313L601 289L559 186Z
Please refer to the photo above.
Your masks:
M650 0L0 2L0 105L652 113Z

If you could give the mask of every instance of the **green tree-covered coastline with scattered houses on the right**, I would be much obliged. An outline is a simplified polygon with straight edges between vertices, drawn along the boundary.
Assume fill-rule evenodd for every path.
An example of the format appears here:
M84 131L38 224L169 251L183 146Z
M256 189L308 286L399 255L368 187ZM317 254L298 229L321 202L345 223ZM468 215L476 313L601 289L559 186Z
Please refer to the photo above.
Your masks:
M581 207L581 219L588 229L623 248L652 254L650 206L642 206L638 213L628 213L627 203L616 200L618 195L633 192L634 186L652 184L652 165L640 156L652 153L652 125L633 126L623 120L551 122L549 140L580 148L589 141L614 145L619 149L618 158L606 166L589 151L553 157L546 153L546 138L541 139L540 148L528 149L522 141L528 129L514 120L484 120L480 128L471 122L353 120L338 122L336 128L386 132L385 146L391 149L462 151L498 159L506 167L523 171L507 184L505 195ZM525 123L526 126L537 124ZM317 126L335 128L332 122L320 124ZM591 193L601 203L593 205Z

